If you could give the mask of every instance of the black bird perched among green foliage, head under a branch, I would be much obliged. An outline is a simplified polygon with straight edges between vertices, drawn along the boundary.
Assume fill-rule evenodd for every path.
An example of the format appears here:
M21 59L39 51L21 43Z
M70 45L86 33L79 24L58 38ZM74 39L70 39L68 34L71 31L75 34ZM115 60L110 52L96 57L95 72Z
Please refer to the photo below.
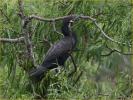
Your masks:
M61 31L64 37L48 50L43 63L38 68L30 71L31 80L41 81L48 70L57 68L58 65L64 66L77 43L76 34L71 30L73 22L73 16L63 19Z

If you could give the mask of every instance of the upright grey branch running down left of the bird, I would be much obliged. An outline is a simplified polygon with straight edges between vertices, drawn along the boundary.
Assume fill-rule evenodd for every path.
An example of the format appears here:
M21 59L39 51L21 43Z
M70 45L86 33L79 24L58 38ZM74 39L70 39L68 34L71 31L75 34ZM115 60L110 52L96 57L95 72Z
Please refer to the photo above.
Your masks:
M31 59L33 65L36 67L35 57L33 53L33 46L30 38L30 18L24 15L23 0L18 0L19 5L19 16L21 18L21 31L24 34L24 42L27 47L29 58Z

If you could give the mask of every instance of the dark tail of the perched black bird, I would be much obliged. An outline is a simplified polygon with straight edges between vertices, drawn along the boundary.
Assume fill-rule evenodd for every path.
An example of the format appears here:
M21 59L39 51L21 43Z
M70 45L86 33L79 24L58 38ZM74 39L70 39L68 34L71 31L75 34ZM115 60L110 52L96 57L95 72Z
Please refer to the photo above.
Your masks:
M48 69L43 66L39 66L36 69L33 69L29 73L29 77L32 81L38 82L43 79L43 77L46 75Z

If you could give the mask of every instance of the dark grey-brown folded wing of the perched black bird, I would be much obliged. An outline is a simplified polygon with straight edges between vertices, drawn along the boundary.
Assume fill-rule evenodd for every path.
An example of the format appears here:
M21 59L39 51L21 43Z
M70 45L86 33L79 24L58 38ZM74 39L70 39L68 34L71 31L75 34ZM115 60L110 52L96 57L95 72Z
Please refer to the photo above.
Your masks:
M70 37L63 38L58 43L54 44L47 52L44 61L56 59L57 57L67 53L72 49L72 39Z

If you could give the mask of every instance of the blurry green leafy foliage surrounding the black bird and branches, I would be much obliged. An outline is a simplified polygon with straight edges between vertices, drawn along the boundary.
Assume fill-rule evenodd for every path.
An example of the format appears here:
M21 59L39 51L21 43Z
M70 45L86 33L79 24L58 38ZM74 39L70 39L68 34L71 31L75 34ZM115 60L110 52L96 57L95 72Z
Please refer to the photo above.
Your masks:
M131 2L130 0L24 0L26 15L37 14L45 18L55 18L69 14L83 14L97 19L102 29L113 39L131 42ZM17 15L17 0L0 0L0 37L15 38L22 36L20 18ZM56 23L60 31L61 21ZM40 64L50 43L62 37L55 33L52 24L32 21L32 42L36 62ZM35 91L42 97L51 99L98 99L112 100L131 95L130 56L110 51L106 48L130 52L128 45L118 45L106 39L89 20L74 23L73 30L78 36L78 51L73 53L78 71L68 78L73 64L68 60L66 68L56 74L50 71L47 77L37 84ZM22 43L0 43L0 98L11 100L30 100L33 91L28 74L29 69L25 45ZM80 75L80 79L76 79ZM74 86L73 86L74 85Z

